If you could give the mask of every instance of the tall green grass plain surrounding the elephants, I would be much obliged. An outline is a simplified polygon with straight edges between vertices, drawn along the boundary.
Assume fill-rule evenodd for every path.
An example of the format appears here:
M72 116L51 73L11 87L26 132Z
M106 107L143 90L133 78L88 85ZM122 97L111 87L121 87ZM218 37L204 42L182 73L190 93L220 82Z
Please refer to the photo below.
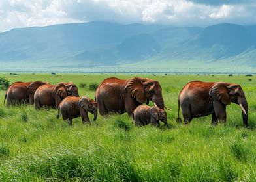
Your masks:
M76 85L135 76L161 83L165 105L172 109L167 110L170 128L135 127L127 114L99 116L91 124L77 118L71 127L57 120L53 109L0 104L0 181L256 181L256 112L249 112L249 129L242 127L241 110L234 104L227 106L225 125L212 126L211 116L189 125L176 123L178 93L188 81L240 83L249 107L256 109L254 77L248 81L244 75L0 74L10 83ZM94 98L89 86L79 92ZM4 95L1 91L0 103Z

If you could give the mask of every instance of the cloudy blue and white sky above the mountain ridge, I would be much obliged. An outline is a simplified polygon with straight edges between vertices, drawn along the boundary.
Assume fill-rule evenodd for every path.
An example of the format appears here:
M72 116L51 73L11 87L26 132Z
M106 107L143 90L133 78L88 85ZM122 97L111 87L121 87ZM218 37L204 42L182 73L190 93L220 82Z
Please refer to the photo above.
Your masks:
M18 27L112 21L206 27L256 24L255 0L0 0L0 32Z

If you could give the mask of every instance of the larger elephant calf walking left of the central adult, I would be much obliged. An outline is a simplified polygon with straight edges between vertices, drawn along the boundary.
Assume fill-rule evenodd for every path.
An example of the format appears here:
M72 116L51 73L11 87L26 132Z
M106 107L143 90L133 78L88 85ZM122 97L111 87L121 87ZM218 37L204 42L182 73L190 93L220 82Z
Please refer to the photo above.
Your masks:
M93 121L97 119L97 103L88 97L68 96L63 99L58 107L57 118L59 118L59 110L63 120L67 120L72 125L72 119L81 116L82 122L90 122L88 111L94 115Z

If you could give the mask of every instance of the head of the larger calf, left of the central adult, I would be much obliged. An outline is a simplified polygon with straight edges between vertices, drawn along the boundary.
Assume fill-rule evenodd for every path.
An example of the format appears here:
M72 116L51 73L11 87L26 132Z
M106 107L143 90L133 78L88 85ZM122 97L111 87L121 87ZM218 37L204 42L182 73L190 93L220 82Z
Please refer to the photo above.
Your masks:
M88 97L82 97L78 101L78 105L82 107L86 112L91 112L94 115L93 121L97 120L98 108L97 103Z

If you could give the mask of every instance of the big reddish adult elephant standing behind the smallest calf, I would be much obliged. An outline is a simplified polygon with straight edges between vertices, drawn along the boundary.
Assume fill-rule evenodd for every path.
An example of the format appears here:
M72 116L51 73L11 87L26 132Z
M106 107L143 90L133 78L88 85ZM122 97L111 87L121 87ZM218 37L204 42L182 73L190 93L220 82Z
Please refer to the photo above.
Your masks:
M149 101L153 101L161 109L165 107L159 82L140 77L126 80L115 77L104 79L96 90L95 100L101 115L128 112L131 116L138 105L148 104Z

